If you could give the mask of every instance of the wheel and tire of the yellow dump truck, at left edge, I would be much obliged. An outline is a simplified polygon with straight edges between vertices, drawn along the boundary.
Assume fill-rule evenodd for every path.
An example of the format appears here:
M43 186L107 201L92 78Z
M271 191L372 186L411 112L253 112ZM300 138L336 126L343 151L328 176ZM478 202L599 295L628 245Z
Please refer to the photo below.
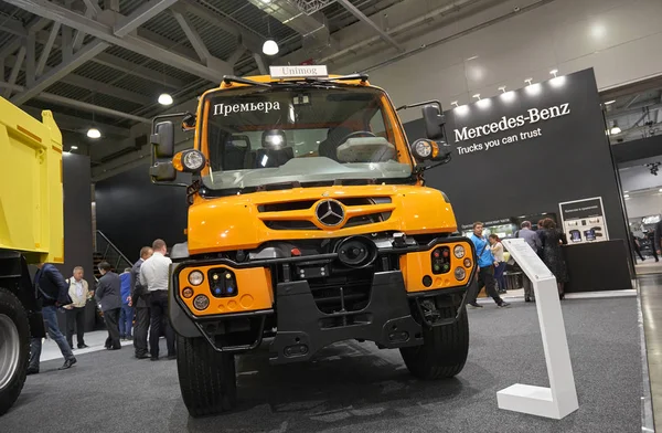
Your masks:
M0 287L0 415L17 401L28 370L30 324L20 300Z

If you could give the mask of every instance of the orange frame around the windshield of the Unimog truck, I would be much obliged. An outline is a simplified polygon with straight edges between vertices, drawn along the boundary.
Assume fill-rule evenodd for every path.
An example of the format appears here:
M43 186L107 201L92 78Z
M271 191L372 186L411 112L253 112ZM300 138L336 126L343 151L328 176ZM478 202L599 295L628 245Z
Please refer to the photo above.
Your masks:
M206 148L206 142L209 138L209 125L207 117L210 116L212 104L211 98L213 97L228 97L231 98L235 93L242 94L260 94L260 93L271 93L279 91L299 91L299 89L328 89L332 91L334 88L338 89L366 89L375 93L375 99L378 101L378 110L382 114L384 125L388 125L385 128L386 137L389 141L393 141L396 148L396 161L402 165L407 165L410 168L410 175L414 175L416 169L416 161L413 158L409 144L407 140L407 136L405 134L404 127L397 113L395 112L393 102L391 101L388 94L376 86L371 86L367 84L351 84L351 83L338 83L338 82L284 82L284 83L271 83L268 87L265 86L250 86L244 84L232 84L227 85L225 83L222 84L220 88L211 89L205 92L197 106L197 122L195 128L195 139L194 139L194 148L200 150L205 155L209 160L210 149ZM249 169L246 169L249 170ZM203 171L201 172L201 177L209 177L212 175L211 165L207 165ZM380 178L381 180L382 178ZM402 178L403 181L408 182L407 178ZM386 179L384 179L386 180ZM267 182L270 183L270 182ZM210 188L211 189L211 188ZM239 188L239 189L250 189L250 188Z

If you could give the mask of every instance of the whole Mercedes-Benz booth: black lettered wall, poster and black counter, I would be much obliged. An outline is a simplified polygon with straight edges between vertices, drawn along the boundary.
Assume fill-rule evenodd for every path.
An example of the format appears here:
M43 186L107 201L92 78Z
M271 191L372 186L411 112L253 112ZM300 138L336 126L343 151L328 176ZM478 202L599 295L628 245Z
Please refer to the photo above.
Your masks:
M426 173L453 203L458 231L482 221L512 237L551 218L566 233L566 292L632 288L628 224L592 70L445 112L450 163ZM405 125L409 140L421 120ZM609 270L606 272L606 270Z

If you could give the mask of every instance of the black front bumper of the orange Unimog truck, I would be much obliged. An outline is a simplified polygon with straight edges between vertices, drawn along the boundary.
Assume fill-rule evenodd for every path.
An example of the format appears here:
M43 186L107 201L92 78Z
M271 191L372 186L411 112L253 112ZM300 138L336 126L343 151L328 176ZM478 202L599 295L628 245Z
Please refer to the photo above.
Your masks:
M433 246L448 242L453 240L438 240ZM419 249L418 252L428 250L429 247ZM305 261L310 261L310 257L296 257L286 262L291 265ZM269 346L271 363L305 361L323 347L349 339L374 341L382 348L418 346L423 344L424 327L446 326L460 318L468 293L472 289L472 284L476 284L472 268L461 286L407 292L404 270L376 272L372 278L370 298L363 308L342 308L332 314L318 308L306 279L275 283L271 308L253 311L194 316L179 296L179 273L190 266L213 265L239 270L282 262L275 260L238 264L228 260L214 260L174 265L169 306L174 330L184 337L204 337L217 351L242 352L258 347L263 342L263 336L275 327L277 331ZM439 296L446 299L446 305L455 307L456 314L453 317L429 320L426 299ZM256 329L249 341L233 344L224 338L226 332L245 330L245 324Z

